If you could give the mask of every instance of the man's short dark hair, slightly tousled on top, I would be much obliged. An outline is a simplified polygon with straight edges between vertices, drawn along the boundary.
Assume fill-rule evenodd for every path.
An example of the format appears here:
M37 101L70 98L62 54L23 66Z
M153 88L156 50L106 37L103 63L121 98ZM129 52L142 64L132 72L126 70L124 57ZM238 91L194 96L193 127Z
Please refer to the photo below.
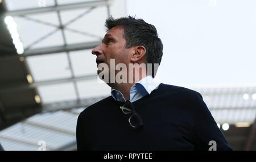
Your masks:
M136 45L144 46L146 48L146 63L152 63L152 71L154 71L154 63L160 65L163 56L163 44L158 37L155 26L133 16L118 19L111 16L106 19L105 27L107 31L118 25L121 25L124 29L126 48ZM155 77L155 74L152 73L152 76Z

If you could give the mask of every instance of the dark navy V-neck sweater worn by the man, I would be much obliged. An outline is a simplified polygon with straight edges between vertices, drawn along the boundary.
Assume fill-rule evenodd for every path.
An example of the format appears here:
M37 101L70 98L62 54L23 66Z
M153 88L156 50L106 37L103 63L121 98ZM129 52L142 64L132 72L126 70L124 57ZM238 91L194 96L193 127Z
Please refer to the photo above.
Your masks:
M77 150L232 150L200 93L161 83L133 103L143 127L134 129L112 96L81 112Z

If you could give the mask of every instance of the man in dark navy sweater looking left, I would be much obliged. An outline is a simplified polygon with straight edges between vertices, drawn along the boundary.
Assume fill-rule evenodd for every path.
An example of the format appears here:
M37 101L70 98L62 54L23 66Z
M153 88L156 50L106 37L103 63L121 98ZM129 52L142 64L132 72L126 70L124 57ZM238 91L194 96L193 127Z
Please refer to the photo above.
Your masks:
M162 59L154 25L128 16L105 26L92 54L111 96L80 114L77 150L232 150L200 93L155 82L157 66L141 66Z

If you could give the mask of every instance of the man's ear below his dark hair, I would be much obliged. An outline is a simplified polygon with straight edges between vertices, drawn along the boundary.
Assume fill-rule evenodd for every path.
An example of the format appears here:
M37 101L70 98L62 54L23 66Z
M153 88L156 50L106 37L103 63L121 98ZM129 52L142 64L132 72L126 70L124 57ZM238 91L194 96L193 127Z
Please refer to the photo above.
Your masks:
M146 48L142 45L134 46L133 54L131 55L131 62L144 62Z

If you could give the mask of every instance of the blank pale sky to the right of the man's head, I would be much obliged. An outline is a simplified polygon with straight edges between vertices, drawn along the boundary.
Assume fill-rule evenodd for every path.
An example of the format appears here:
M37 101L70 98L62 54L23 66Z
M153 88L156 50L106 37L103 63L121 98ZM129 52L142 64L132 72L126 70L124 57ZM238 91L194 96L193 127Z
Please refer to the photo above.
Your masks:
M164 50L159 80L177 86L256 84L256 1L126 0L154 24Z

